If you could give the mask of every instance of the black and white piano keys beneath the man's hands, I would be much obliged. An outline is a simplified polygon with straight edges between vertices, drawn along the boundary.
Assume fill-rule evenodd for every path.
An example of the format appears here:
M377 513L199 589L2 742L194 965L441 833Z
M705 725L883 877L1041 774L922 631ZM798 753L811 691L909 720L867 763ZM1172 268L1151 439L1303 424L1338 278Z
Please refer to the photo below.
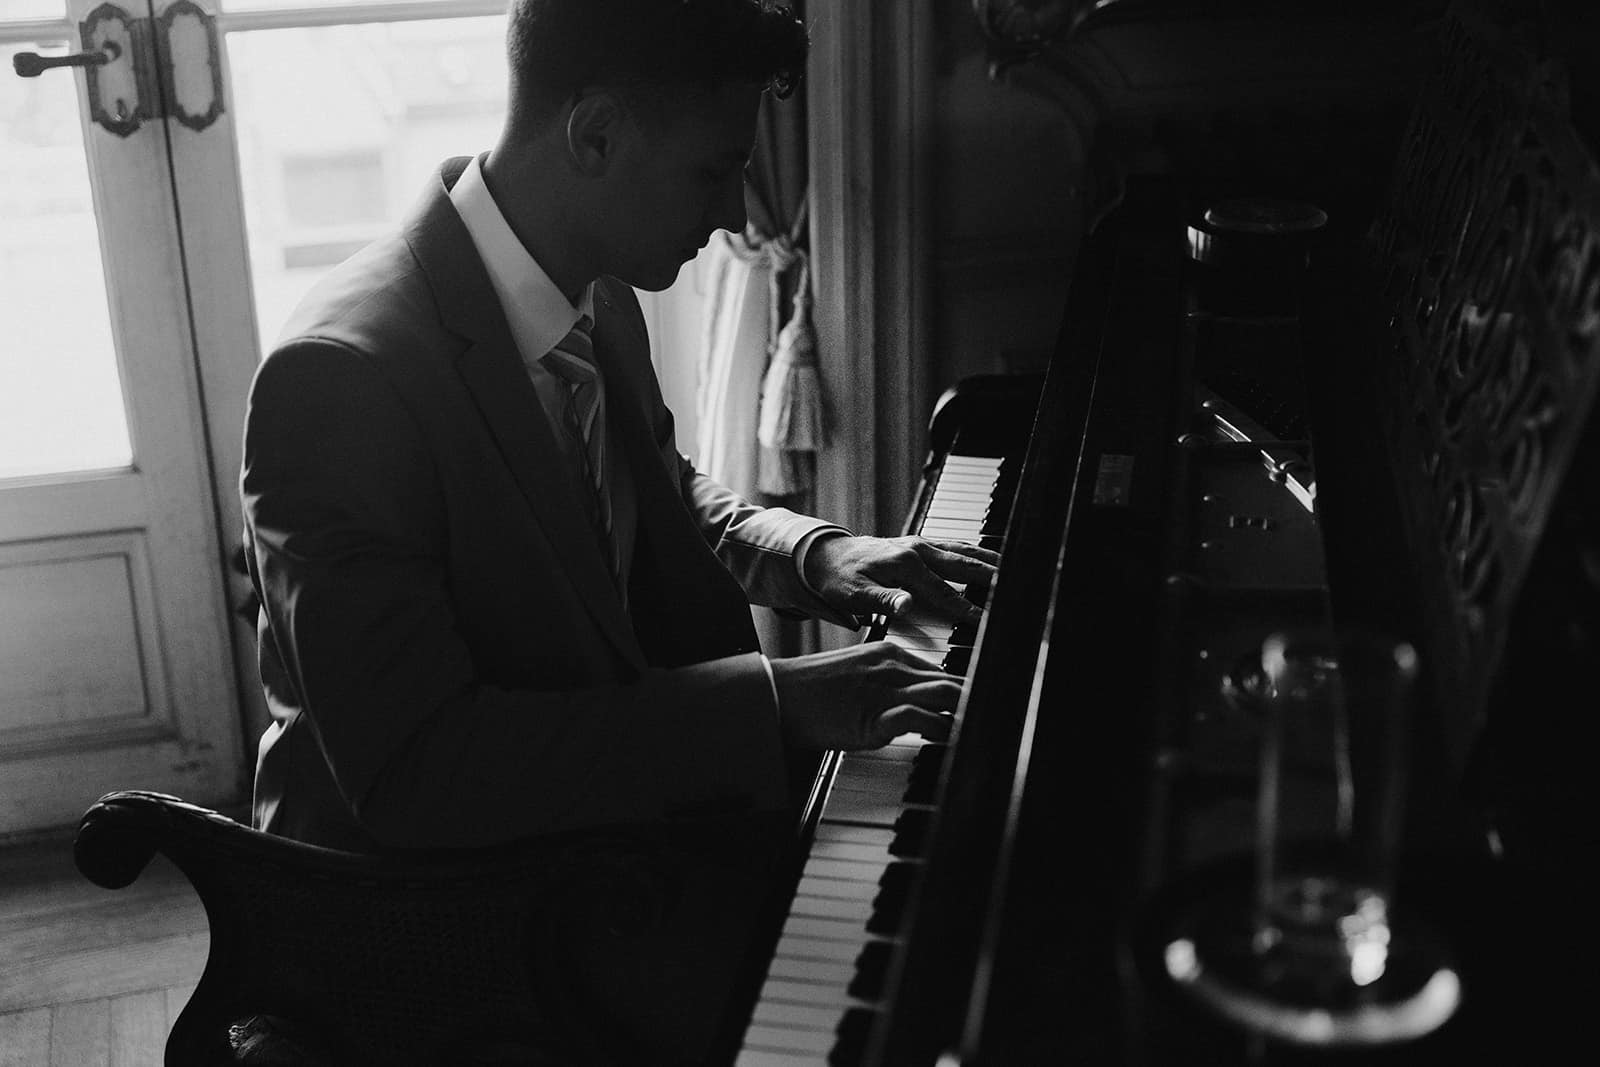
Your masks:
M1019 464L1021 456L952 448L909 525L923 537L998 550ZM982 603L981 590L952 587ZM965 675L978 629L912 613L878 619L867 640L886 640ZM883 749L832 752L824 760L819 814L734 1061L739 1067L850 1062L883 989L946 750L902 734Z

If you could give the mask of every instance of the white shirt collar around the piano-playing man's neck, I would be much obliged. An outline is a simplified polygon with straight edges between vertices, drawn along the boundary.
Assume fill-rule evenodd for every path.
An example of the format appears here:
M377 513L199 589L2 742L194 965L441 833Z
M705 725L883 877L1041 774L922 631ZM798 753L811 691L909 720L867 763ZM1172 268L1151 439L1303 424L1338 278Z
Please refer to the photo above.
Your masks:
M490 285L499 298L523 360L534 362L554 349L581 317L594 322L594 290L590 282L578 296L578 306L550 282L544 267L523 248L501 214L499 205L483 181L480 157L467 163L450 190L450 202L472 235L478 258L488 270Z

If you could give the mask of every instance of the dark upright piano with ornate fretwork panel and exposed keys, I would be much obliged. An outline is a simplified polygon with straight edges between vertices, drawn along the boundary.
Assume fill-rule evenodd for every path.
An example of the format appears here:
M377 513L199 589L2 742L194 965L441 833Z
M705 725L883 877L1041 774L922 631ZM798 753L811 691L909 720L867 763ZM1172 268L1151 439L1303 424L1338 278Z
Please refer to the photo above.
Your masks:
M963 677L955 729L827 755L733 1062L1582 1048L1600 171L1501 30L1442 19L1376 203L1130 179L1048 371L941 400L906 528L1000 549L998 576L966 590L971 632L869 638ZM1432 977L1389 1029L1360 1003L1229 1011L1179 953L1251 901L1262 641L1317 627L1421 662L1387 949Z

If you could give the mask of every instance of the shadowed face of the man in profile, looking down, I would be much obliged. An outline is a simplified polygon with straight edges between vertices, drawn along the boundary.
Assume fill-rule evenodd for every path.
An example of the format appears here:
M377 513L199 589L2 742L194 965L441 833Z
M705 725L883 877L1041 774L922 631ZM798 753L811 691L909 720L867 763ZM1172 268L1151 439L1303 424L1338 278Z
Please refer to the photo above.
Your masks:
M608 174L608 274L642 290L672 285L720 229L744 229L744 168L762 91L726 85L664 98Z

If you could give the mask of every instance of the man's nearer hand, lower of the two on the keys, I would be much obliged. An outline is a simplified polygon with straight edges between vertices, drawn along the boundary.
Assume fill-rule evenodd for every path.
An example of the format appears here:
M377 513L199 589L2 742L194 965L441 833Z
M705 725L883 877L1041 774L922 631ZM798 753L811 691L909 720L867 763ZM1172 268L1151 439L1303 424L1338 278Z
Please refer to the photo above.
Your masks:
M878 749L901 734L950 736L962 681L888 641L774 659L784 739L802 749Z

